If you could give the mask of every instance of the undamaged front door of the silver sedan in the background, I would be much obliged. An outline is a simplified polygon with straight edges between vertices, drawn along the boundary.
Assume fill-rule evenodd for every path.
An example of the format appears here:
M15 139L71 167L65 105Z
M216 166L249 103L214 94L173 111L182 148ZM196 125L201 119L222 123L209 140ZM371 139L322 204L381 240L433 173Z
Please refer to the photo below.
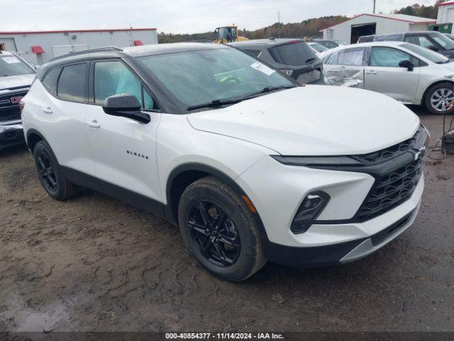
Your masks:
M399 67L402 60L410 60L414 70ZM419 83L419 63L418 58L397 48L372 47L369 66L365 68L364 87L398 101L412 103Z

